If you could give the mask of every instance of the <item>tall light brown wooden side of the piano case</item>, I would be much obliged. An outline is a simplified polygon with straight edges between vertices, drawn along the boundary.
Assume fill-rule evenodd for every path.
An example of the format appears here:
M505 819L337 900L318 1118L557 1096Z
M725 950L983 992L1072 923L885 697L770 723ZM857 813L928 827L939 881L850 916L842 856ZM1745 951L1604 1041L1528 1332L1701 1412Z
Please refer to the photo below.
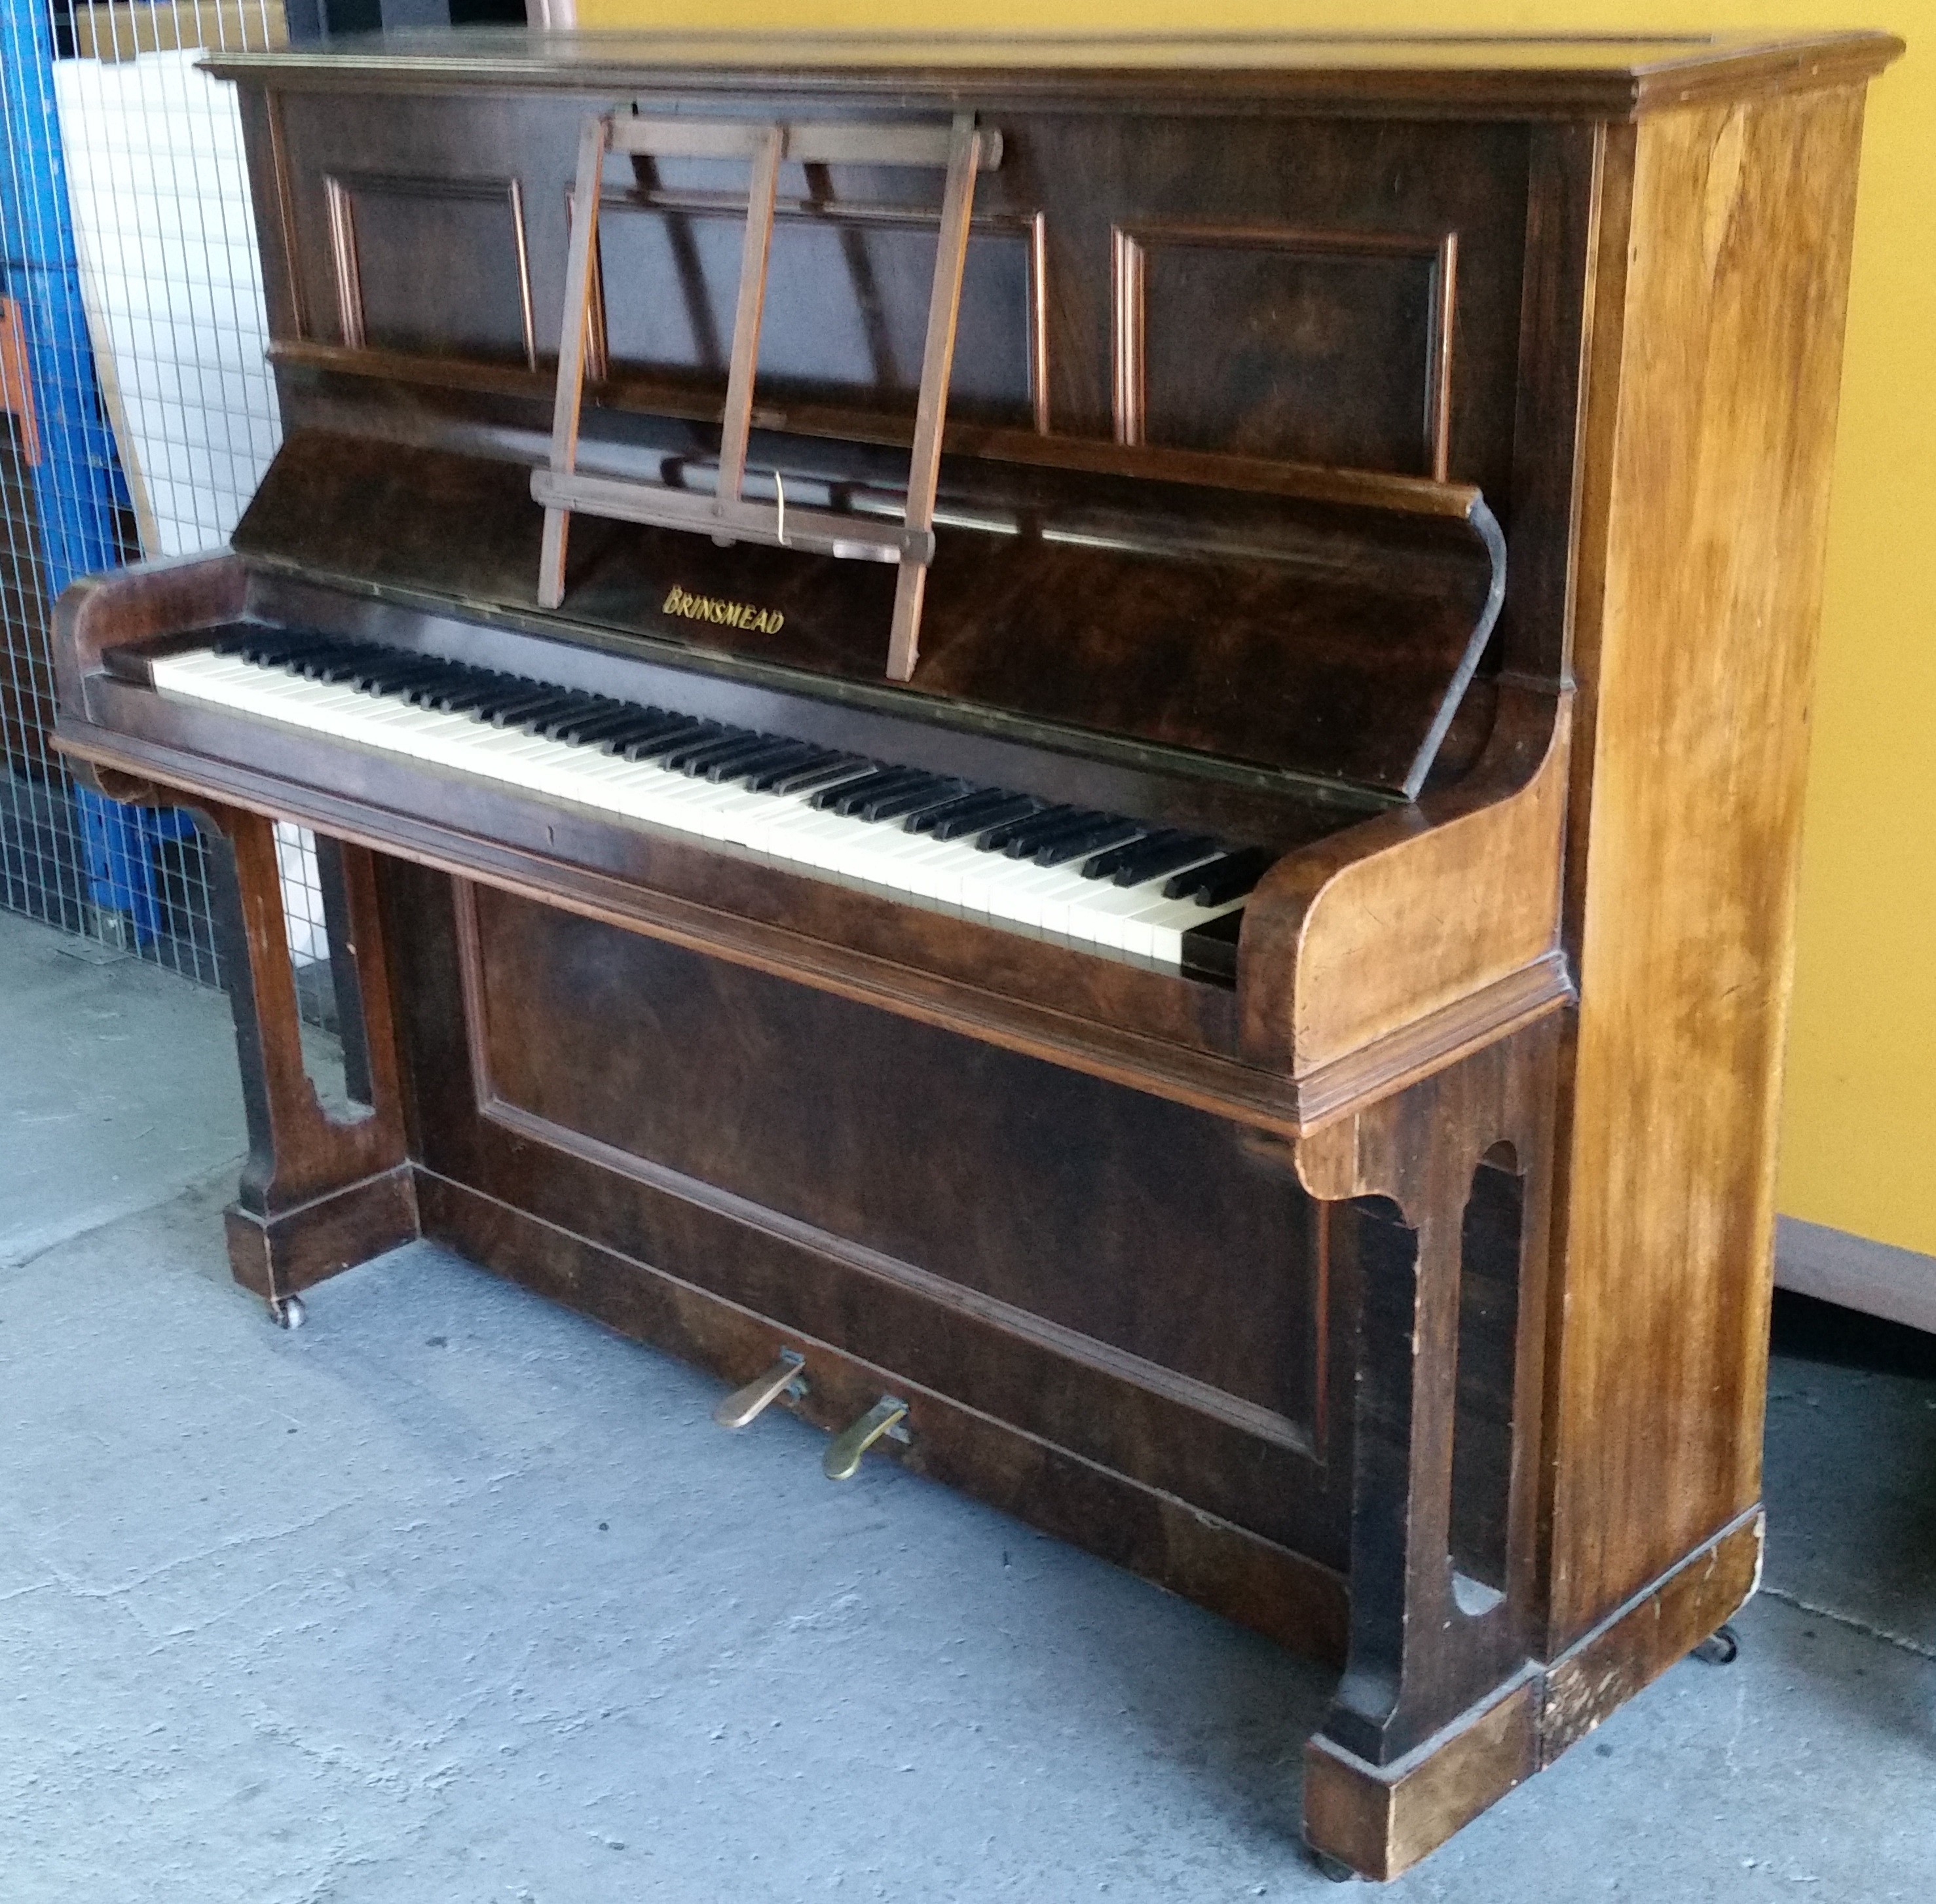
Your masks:
M1860 122L1859 91L1642 122L1624 286L1603 284L1620 302L1595 323L1586 480L1607 528L1576 606L1586 811L1551 1345L1555 1647L1760 1492Z

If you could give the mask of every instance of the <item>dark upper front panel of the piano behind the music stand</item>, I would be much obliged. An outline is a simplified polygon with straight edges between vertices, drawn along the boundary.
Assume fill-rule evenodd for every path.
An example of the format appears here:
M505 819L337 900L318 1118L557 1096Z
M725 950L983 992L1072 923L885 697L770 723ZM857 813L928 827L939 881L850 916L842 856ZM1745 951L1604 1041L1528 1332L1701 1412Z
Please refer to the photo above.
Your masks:
M672 99L641 110L722 118L825 116L825 103ZM364 95L277 99L287 246L298 335L356 342L329 180L511 176L509 221L426 236L416 255L368 257L364 296L438 308L426 281L529 269L538 356L556 356L569 195L585 95ZM906 114L964 101L912 93ZM1003 135L976 188L956 344L956 414L1065 435L1433 474L1489 497L1512 491L1522 373L1529 128L1274 114L1090 114L966 101ZM738 284L743 166L641 163L606 172L604 341L618 373L672 370L724 393ZM656 197L656 209L652 199ZM712 201L709 205L709 199ZM629 203L631 209L625 209ZM780 172L761 399L910 408L939 180L920 168ZM378 284L383 273L395 283ZM426 356L523 354L521 317L449 312ZM376 342L376 337L370 339ZM765 381L771 375L771 385ZM587 433L604 428L594 408ZM290 416L296 422L296 416Z

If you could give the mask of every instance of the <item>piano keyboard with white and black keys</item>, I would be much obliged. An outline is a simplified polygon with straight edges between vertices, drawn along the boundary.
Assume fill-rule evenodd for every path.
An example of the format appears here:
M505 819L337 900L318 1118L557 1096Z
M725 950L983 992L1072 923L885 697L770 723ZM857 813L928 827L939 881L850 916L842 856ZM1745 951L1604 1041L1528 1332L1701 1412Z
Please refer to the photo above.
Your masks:
M1165 971L1233 973L1243 902L1272 861L1206 834L366 640L236 627L153 658L149 673L165 695Z

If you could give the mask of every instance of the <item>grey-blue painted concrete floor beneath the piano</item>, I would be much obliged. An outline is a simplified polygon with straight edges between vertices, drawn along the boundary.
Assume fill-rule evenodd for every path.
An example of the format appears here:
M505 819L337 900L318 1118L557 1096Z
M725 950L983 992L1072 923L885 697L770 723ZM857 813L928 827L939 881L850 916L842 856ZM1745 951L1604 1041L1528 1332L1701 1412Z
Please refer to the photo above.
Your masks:
M227 1277L227 1010L0 917L0 1900L1239 1900L1326 1676L412 1246ZM1396 1900L1936 1894L1936 1380L1785 1356L1768 1585Z

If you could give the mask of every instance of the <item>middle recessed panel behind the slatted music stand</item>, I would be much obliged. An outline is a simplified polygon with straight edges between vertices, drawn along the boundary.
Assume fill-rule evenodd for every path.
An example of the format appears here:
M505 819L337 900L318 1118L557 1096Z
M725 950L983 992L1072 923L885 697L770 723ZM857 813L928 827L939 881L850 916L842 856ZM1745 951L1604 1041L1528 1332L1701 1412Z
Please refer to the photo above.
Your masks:
M743 215L608 203L600 211L614 375L726 385ZM761 399L912 410L935 271L935 221L782 207L772 230ZM1034 224L978 228L962 277L949 412L1036 422Z

